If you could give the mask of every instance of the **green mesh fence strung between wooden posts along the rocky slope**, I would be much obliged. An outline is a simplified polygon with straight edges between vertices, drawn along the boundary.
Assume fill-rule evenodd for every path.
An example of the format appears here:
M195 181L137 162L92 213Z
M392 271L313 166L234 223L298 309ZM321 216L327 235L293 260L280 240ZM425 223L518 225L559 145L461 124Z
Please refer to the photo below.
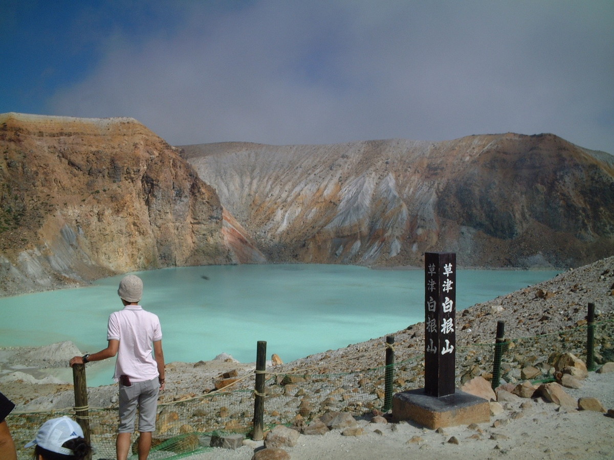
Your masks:
M614 360L614 321L595 323L594 346L597 362ZM500 353L500 381L546 381L554 378L553 360L562 351L586 357L586 326L537 335L506 339L494 343L459 346L456 353L456 386L477 375L492 378L495 352ZM389 347L390 348L390 347ZM330 372L332 364L309 369L295 369L282 374L266 374L264 424L301 424L326 412L349 412L360 417L373 410L383 410L386 395L386 344L356 362L370 362L370 367L343 363L352 372ZM394 347L393 393L424 386L424 356L416 349ZM529 374L530 375L526 375ZM390 375L388 376L390 378ZM227 391L217 391L193 399L158 405L158 421L150 459L178 459L211 450L211 439L223 434L249 437L254 416L254 375L244 375ZM390 391L390 389L389 389ZM69 415L74 409L44 413L12 413L7 418L18 458L31 458L32 450L22 448L34 439L39 427L49 418ZM115 458L117 407L90 408L93 459ZM136 442L137 435L133 436ZM136 445L134 446L136 449ZM136 458L136 450L133 451Z

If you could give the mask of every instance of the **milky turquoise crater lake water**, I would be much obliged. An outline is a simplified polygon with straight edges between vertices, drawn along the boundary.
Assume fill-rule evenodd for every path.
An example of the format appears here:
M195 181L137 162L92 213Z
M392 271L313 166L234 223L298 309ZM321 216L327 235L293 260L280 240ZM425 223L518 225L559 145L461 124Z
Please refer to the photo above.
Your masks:
M550 279L553 270L457 271L456 308ZM423 270L340 265L201 266L136 272L141 304L160 317L166 362L228 353L256 359L258 340L284 362L392 334L424 321ZM122 309L123 275L91 286L0 299L0 347L72 340L94 353L107 345L109 314ZM494 331L493 331L494 334ZM112 383L109 359L88 385Z

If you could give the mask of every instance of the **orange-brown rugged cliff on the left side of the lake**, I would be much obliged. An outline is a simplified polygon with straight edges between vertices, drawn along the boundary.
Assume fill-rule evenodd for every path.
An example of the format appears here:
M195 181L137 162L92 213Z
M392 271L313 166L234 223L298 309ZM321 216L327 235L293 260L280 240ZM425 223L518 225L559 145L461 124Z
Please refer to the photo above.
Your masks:
M131 118L0 115L0 294L236 259L211 186Z

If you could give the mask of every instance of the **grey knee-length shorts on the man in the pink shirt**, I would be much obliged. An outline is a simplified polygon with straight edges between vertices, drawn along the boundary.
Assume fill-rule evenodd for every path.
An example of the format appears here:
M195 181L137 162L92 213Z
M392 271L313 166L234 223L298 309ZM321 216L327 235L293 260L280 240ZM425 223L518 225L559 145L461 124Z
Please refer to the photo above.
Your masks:
M133 433L136 408L139 408L139 432L155 431L155 416L158 408L160 383L153 380L133 381L131 386L119 384L119 429L120 433Z

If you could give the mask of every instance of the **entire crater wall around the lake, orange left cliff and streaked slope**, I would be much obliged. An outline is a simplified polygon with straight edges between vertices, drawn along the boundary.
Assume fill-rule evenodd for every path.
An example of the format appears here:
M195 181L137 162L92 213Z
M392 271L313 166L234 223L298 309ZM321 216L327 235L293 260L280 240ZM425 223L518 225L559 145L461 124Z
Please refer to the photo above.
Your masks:
M614 253L614 157L550 134L180 150L131 118L5 113L0 149L0 296L192 264Z

